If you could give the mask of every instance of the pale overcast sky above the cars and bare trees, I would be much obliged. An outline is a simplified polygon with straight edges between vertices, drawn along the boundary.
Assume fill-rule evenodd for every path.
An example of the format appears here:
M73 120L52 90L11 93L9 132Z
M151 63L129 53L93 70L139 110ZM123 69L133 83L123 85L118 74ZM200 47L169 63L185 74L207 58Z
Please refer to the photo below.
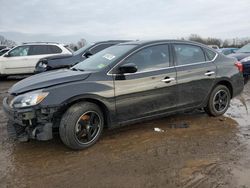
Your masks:
M250 0L0 0L0 32L96 39L250 36ZM21 39L20 39L21 40Z

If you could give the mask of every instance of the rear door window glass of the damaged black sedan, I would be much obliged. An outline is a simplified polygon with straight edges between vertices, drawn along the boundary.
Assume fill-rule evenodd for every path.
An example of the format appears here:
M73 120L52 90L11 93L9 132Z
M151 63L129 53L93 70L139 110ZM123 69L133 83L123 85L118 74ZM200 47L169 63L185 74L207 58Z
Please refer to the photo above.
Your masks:
M177 65L205 62L205 55L199 46L189 44L174 44Z

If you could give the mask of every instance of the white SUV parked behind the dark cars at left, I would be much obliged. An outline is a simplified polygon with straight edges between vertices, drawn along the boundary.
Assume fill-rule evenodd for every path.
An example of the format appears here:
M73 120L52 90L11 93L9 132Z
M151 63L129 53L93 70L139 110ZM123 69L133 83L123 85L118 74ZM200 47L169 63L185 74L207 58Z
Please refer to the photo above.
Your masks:
M56 54L72 54L63 44L24 43L0 57L0 78L9 75L32 74L39 59Z

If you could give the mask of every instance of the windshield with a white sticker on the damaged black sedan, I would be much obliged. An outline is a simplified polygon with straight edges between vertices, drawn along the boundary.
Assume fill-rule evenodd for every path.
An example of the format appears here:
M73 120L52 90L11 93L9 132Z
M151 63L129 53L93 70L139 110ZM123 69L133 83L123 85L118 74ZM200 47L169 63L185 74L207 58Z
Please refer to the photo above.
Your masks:
M101 70L134 47L135 45L111 46L78 63L72 69L90 71Z

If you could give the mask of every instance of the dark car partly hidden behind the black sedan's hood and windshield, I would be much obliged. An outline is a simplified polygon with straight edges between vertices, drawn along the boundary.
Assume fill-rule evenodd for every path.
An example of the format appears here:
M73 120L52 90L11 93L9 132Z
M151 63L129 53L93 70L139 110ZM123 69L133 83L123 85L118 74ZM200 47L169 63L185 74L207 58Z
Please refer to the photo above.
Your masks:
M54 69L60 68L69 68L73 65L85 60L89 56L96 54L99 51L102 51L105 48L110 46L128 42L125 40L110 40L110 41L101 41L92 44L87 44L83 48L77 50L70 55L56 55L42 58L38 61L36 65L36 73L45 72Z

